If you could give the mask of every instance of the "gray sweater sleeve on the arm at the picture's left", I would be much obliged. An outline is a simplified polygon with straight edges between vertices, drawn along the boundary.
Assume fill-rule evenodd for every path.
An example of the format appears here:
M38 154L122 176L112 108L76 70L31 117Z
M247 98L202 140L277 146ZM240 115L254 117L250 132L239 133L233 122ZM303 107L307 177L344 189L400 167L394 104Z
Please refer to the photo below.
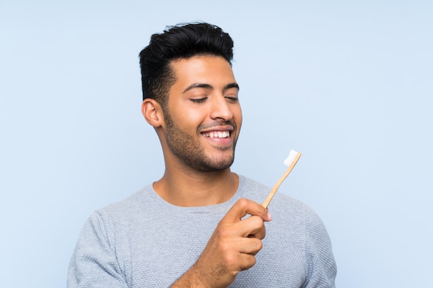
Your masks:
M84 224L68 268L68 288L127 288L107 223L95 212Z

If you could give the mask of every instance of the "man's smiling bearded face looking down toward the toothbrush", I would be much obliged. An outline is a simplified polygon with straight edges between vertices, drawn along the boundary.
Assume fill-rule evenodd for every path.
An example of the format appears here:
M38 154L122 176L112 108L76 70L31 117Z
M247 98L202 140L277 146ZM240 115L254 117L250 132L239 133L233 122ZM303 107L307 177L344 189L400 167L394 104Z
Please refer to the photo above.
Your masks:
M165 109L165 139L174 159L196 171L228 169L242 124L239 86L223 57L172 62L176 82Z

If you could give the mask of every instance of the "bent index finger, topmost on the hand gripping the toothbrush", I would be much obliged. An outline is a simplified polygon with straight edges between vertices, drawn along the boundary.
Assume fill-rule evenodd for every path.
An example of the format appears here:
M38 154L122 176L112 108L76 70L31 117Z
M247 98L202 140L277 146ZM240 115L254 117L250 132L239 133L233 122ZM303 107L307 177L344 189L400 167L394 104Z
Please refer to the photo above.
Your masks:
M271 216L261 204L248 199L239 199L233 207L225 214L223 222L238 222L247 215L259 216L264 221L270 221Z

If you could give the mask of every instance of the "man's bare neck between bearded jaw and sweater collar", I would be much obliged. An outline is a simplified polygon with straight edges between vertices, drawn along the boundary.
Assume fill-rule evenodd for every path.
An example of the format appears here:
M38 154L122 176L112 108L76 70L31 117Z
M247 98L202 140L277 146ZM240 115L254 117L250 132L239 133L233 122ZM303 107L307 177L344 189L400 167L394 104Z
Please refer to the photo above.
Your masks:
M199 207L220 204L237 191L239 178L230 169L199 172L165 169L163 177L154 183L154 189L165 201L181 207Z

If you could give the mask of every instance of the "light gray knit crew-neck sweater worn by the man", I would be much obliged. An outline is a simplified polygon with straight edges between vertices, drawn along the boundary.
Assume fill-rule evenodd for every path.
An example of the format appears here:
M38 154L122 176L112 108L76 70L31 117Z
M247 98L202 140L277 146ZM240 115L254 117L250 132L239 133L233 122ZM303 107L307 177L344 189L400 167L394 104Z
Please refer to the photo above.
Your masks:
M227 202L176 207L151 185L109 207L84 224L68 269L73 287L169 287L189 269L216 224L239 198L263 202L270 189L239 176ZM335 287L331 242L320 218L293 198L277 193L270 203L257 262L239 272L230 287Z

